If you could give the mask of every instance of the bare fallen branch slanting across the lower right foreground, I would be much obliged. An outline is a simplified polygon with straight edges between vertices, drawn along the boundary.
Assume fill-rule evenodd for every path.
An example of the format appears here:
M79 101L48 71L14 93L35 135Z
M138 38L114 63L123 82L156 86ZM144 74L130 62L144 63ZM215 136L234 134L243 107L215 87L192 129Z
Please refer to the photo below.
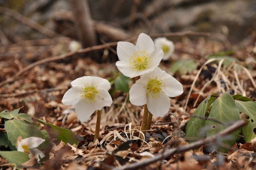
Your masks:
M149 158L149 159L141 161L141 162L135 162L135 163L130 164L130 165L120 166L120 167L114 168L112 170L132 170L132 169L138 169L142 166L144 166L144 168L145 168L149 164L152 164L152 163L157 162L159 160L163 160L165 158L168 158L168 157L172 156L173 154L185 152L185 151L188 151L188 150L191 150L191 149L194 149L194 148L198 148L198 147L200 147L200 146L202 146L206 143L214 142L217 138L220 138L220 137L223 137L227 134L230 134L231 132L234 132L235 130L238 130L239 128L241 128L244 125L246 125L246 122L244 120L239 120L239 121L235 122L234 124L232 124L231 126L229 126L228 128L226 128L225 130L221 131L220 133L218 133L216 135L210 136L210 137L202 139L202 140L198 140L197 142L193 142L189 145L185 145L185 146L178 147L178 148L168 149L164 153L156 155L153 158Z

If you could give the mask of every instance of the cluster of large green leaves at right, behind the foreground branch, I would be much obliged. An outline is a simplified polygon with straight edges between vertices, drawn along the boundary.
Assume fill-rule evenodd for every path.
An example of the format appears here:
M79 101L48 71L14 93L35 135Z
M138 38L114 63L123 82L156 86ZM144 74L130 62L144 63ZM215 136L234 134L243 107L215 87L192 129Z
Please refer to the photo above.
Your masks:
M222 146L232 146L240 132L244 135L246 142L256 137L256 102L240 94L231 96L226 93L222 96L211 94L196 108L193 116L186 126L186 138L190 142L212 136L227 128L230 123L240 120L240 113L248 116L248 124L242 129L222 139ZM227 148L227 147L226 147ZM226 150L220 147L220 150Z

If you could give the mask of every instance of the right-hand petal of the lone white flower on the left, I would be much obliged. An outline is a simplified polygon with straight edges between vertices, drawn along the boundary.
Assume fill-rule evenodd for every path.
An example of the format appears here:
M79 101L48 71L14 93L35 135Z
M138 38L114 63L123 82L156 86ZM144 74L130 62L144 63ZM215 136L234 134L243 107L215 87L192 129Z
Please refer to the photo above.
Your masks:
M96 101L92 103L94 105L94 108L96 110L102 110L102 108L105 106L111 106L112 98L108 91L104 88L98 88L97 90L100 94L100 98L97 98Z

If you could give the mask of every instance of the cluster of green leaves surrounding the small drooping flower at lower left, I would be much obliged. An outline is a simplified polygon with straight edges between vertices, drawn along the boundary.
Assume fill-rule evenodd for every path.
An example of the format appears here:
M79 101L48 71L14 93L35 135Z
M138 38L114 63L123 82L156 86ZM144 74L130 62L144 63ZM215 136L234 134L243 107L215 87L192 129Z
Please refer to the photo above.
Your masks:
M32 119L28 114L18 113L19 110L20 108L11 112L0 112L0 118L4 119L4 129L6 131L0 131L0 146L4 146L6 150L12 150L0 151L0 155L6 158L9 163L15 164L17 168L22 168L20 164L29 160L28 154L16 151L16 142L19 136L21 136L22 139L32 136L45 139L45 142L38 147L40 150L44 150L51 145L49 134L51 134L51 138L56 138L59 141L78 144L76 136L71 130L55 126L39 119ZM48 126L46 128L47 131L40 130L38 123Z

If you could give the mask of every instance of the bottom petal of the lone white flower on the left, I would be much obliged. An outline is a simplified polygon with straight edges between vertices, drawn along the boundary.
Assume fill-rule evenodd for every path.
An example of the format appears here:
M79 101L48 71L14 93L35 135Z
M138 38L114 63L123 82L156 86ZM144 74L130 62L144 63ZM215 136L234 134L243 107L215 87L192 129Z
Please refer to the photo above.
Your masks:
M90 116L95 112L96 108L93 104L84 102L83 100L79 100L79 102L75 106L77 118L81 122L86 122Z

